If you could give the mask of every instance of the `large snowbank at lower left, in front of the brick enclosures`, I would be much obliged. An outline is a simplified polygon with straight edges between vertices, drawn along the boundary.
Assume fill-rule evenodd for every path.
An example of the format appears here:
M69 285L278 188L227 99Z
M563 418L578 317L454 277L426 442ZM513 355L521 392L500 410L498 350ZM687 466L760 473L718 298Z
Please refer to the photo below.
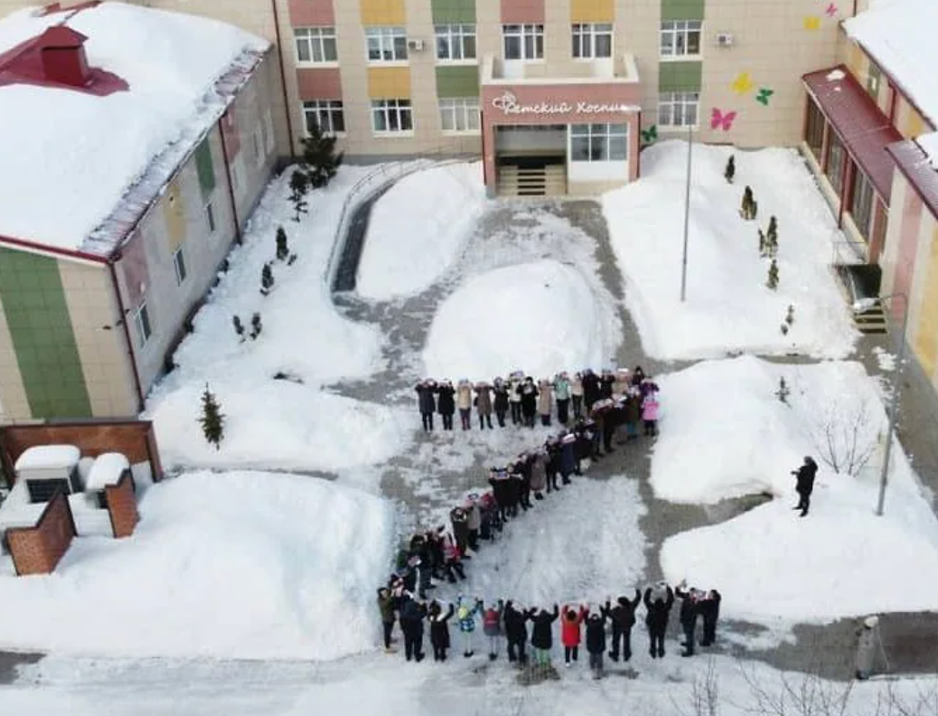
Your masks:
M0 576L0 646L228 659L335 659L374 646L394 539L385 500L274 473L150 488L125 540L78 538L48 576Z

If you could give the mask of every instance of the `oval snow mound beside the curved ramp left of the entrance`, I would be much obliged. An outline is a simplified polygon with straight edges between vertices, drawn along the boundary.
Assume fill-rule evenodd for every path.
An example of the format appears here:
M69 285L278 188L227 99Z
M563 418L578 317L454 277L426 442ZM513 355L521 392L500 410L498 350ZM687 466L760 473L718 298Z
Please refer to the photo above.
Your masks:
M430 286L459 258L485 206L479 161L402 178L371 211L358 294L386 300Z

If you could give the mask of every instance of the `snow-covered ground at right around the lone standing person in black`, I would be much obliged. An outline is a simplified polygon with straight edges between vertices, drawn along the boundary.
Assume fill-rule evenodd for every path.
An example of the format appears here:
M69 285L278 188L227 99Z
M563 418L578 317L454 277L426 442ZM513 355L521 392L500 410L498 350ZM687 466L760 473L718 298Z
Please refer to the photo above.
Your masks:
M788 405L775 395L780 377L791 388ZM874 514L885 409L859 363L744 357L699 363L658 384L667 412L652 458L656 495L703 504L774 496L665 541L660 560L672 583L716 587L721 615L770 624L938 608L938 521L898 441L885 514ZM872 456L851 477L825 463L823 446L832 425L836 453L845 455L855 424L857 445ZM790 473L808 454L820 470L801 519Z

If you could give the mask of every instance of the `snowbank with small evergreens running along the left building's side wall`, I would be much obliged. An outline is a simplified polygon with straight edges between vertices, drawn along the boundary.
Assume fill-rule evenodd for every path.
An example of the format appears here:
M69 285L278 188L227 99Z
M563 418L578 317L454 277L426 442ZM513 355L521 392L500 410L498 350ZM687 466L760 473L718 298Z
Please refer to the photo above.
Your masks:
M266 191L244 246L232 252L228 273L174 354L178 367L148 401L169 465L332 470L381 462L406 445L407 431L390 408L322 392L326 383L380 365L380 332L340 316L325 282L342 201L364 173L342 167L326 189L310 193L312 218L299 223L287 199L290 172ZM263 297L261 269L273 258L278 226L298 258L293 266L274 263L274 289ZM261 335L239 340L232 316L250 332L255 312ZM196 422L206 384L226 419L220 450Z

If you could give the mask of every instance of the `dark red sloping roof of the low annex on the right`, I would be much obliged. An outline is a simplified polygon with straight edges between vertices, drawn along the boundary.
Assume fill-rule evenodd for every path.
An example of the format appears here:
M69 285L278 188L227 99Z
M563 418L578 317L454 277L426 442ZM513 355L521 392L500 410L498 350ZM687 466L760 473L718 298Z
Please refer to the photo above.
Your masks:
M801 79L851 158L889 206L895 162L885 147L902 140L899 130L845 66L819 69Z

